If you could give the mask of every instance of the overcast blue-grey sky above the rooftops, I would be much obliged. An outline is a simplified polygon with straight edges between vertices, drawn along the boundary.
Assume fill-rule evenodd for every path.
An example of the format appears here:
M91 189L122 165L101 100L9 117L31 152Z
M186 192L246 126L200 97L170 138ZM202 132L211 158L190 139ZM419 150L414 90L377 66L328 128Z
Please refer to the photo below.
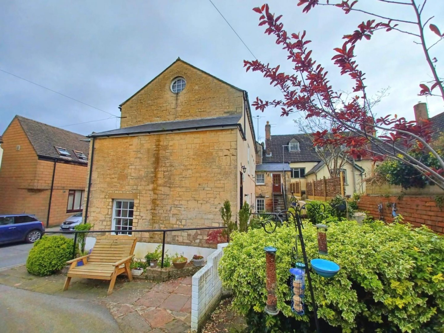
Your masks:
M281 64L289 70L286 54L274 44L275 38L258 27L258 14L251 9L258 1L213 0L259 60ZM409 6L360 1L364 9L388 16L413 19ZM353 82L340 77L330 60L341 37L353 32L365 16L344 15L337 8L317 7L302 14L297 1L270 1L270 10L283 14L281 22L288 32L306 30L313 41L313 58L331 74L336 90L351 91ZM363 7L361 7L363 8ZM444 31L442 0L429 0L424 17L435 15L432 23ZM208 0L144 1L48 1L0 2L0 69L59 91L84 103L119 115L118 106L153 79L177 57L248 91L250 102L281 98L279 90L258 72L245 72L243 59L250 52ZM437 36L427 30L429 44ZM413 105L428 102L429 114L444 111L442 99L417 96L419 83L430 79L424 55L411 36L398 32L377 32L370 41L357 45L355 54L367 73L369 94L391 87L390 95L377 107L378 115L397 114L412 119ZM441 65L444 41L432 48ZM291 71L289 70L291 73ZM1 117L3 133L14 115L62 127L74 123L105 119L111 115L0 71ZM260 115L259 135L266 120L274 124L272 134L296 133L293 119L281 118L280 111L266 110ZM63 127L84 135L119 127L119 119L108 119ZM254 121L257 131L257 120Z

